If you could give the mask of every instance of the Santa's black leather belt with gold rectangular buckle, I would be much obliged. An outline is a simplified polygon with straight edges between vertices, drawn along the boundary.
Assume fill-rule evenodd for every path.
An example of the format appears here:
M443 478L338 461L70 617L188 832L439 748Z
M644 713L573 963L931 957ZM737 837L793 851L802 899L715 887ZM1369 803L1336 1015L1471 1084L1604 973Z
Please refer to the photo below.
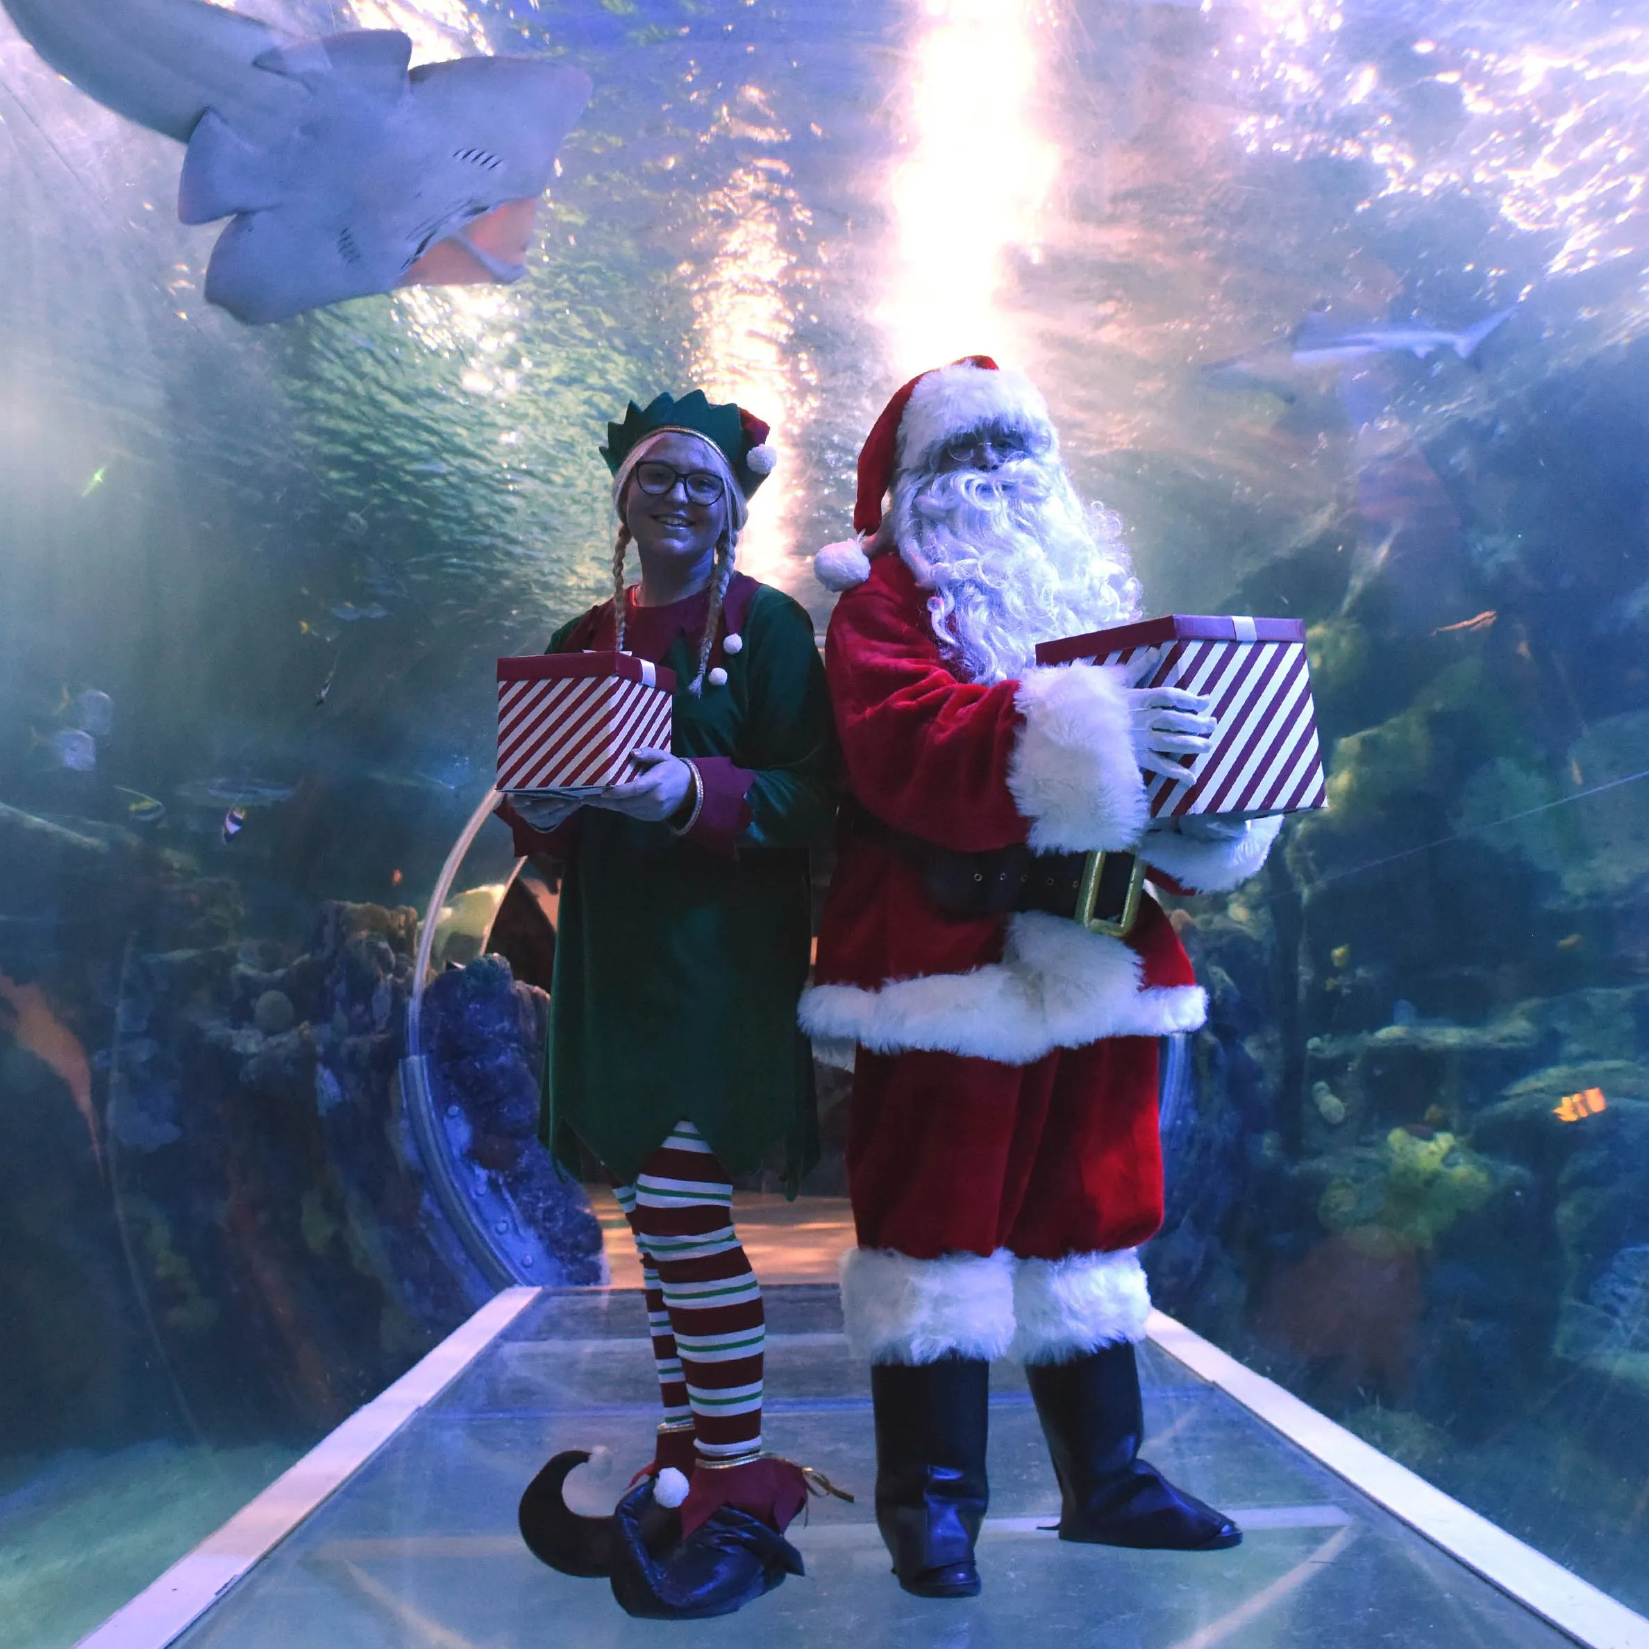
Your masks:
M1144 867L1131 853L1034 853L1024 843L960 853L894 829L857 801L853 828L909 859L942 915L968 918L1044 910L1093 933L1125 935L1139 909Z

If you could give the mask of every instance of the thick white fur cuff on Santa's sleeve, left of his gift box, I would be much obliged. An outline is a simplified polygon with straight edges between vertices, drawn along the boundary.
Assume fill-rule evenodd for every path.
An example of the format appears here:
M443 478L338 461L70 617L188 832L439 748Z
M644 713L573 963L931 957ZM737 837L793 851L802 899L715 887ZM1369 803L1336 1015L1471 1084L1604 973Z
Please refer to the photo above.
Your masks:
M1014 696L1026 724L1008 788L1037 853L1131 848L1148 821L1128 732L1128 679L1105 665L1027 669ZM1166 866L1164 866L1166 869Z

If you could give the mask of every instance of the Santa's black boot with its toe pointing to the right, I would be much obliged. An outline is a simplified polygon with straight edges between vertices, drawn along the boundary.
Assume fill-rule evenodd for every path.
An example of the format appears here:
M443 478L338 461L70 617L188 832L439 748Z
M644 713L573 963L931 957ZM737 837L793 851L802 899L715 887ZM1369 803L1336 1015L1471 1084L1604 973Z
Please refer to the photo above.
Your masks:
M1219 1552L1242 1540L1224 1512L1139 1459L1144 1412L1133 1346L1031 1364L1026 1377L1059 1476L1060 1540L1171 1552Z

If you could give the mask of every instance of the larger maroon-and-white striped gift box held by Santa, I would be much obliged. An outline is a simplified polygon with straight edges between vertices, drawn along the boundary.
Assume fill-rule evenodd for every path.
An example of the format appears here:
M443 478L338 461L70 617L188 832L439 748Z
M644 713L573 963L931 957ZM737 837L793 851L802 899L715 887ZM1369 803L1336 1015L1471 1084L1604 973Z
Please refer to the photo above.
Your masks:
M1077 658L1123 665L1136 688L1184 688L1214 701L1212 750L1186 757L1184 778L1146 773L1153 818L1327 806L1306 627L1298 618L1169 613L1036 650L1039 665Z

